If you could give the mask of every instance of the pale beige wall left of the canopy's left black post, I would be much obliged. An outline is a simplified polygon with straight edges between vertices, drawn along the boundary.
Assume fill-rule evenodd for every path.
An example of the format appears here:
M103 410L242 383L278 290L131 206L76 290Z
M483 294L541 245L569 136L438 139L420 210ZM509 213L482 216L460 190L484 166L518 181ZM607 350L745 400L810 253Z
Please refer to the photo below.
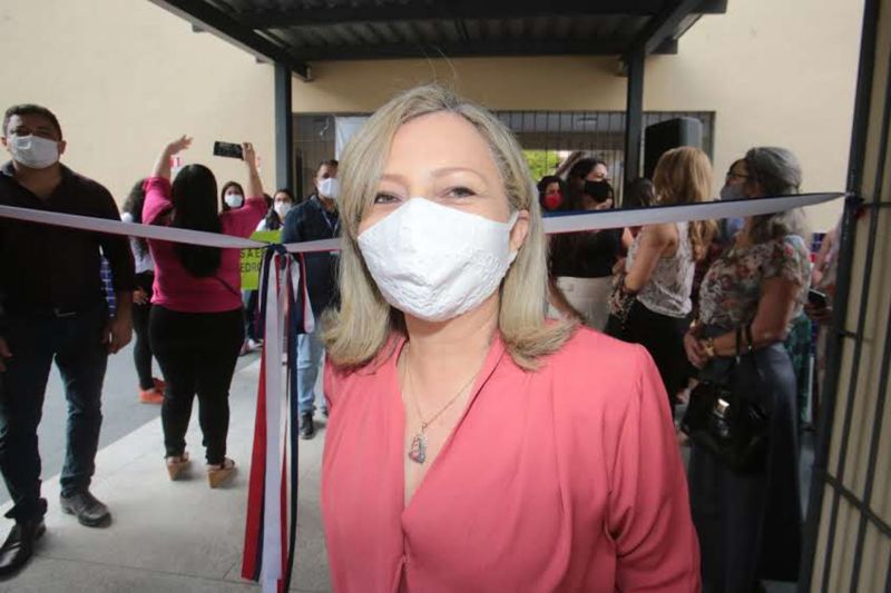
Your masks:
M212 156L214 140L255 142L272 187L271 66L146 0L3 0L0 27L2 109L52 109L63 162L119 201L180 134L195 138L184 161L210 166L219 185L246 176L241 161Z

